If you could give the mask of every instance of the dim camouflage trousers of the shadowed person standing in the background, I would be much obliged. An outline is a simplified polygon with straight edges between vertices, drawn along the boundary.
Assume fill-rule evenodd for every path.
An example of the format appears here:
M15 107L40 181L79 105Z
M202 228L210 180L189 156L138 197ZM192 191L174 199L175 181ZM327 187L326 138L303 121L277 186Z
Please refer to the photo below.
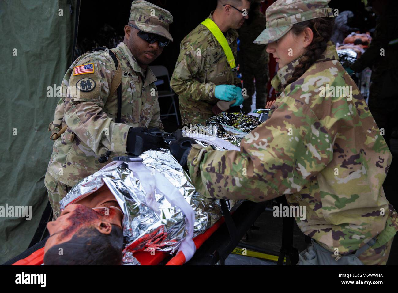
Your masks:
M254 83L254 79L256 83ZM267 98L268 64L245 64L242 70L243 87L246 88L246 98L243 102L243 112L250 113L253 102L254 87L256 87L256 109L265 107Z

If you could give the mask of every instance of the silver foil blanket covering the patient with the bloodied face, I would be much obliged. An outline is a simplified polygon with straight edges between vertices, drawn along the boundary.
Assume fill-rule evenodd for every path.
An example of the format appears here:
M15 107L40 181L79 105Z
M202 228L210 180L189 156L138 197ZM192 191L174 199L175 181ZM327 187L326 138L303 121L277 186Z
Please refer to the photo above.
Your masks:
M179 193L194 214L194 237L213 226L221 217L220 203L195 191L189 177L168 149L146 151L140 155L142 164L152 175L163 175ZM138 172L127 162L117 163L84 178L60 201L61 210L76 199L86 197L106 184L123 210L124 264L139 264L133 252L163 251L174 254L188 234L185 214L171 203L158 187L148 189ZM144 181L144 182L142 182Z

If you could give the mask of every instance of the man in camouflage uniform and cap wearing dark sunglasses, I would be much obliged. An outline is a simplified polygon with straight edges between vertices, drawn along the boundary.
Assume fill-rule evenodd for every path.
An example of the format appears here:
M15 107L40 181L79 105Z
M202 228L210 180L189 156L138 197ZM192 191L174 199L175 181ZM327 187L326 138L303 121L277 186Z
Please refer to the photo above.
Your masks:
M117 91L109 95L116 71L109 52L85 53L66 72L61 87L76 86L77 94L70 90L66 97L60 98L55 110L49 131L57 134L64 126L68 127L54 142L45 175L55 217L59 216L60 199L72 186L104 167L113 157L127 153L132 128L163 129L154 85L156 77L147 65L163 51L161 41L173 40L168 32L172 22L167 10L146 1L133 1L125 39L111 49L122 73L120 123L114 122ZM154 33L158 41L145 41L139 37L142 32ZM109 159L101 160L108 151L111 151Z

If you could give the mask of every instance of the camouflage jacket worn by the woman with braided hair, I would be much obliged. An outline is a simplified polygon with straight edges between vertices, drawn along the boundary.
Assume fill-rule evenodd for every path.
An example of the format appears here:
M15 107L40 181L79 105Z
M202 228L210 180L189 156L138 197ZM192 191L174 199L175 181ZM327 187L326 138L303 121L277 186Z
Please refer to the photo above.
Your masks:
M193 145L192 181L207 197L259 202L286 195L291 206L306 207L306 218L296 217L302 232L332 252L352 252L378 234L373 248L380 247L398 230L382 188L392 155L333 43L284 85L297 64L277 72L272 85L281 94L240 151ZM352 100L321 94L328 85L351 87Z

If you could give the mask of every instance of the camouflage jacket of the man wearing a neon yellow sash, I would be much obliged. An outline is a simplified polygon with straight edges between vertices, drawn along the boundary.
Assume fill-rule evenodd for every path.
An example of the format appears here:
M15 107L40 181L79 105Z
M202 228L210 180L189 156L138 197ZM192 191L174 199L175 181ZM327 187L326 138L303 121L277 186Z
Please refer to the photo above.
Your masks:
M212 14L208 17L211 20ZM226 40L235 60L237 38L235 29L227 31ZM170 85L179 95L179 103L183 108L211 114L211 109L219 101L215 98L215 86L224 84L242 87L220 43L206 26L199 24L181 41Z

